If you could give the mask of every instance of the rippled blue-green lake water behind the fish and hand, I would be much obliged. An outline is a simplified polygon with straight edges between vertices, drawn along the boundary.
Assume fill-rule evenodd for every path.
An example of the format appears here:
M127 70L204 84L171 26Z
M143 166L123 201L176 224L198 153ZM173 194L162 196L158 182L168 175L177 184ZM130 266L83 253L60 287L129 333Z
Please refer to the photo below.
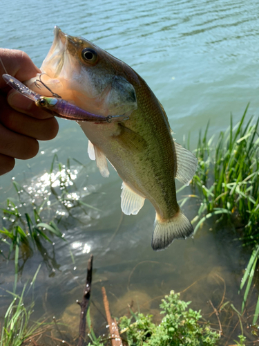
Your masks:
M178 143L191 134L191 149L208 121L209 133L219 134L227 129L231 112L234 122L240 120L248 102L249 115L258 117L258 1L2 0L0 19L1 46L26 51L37 66L48 53L55 25L69 35L86 37L132 66L164 105ZM233 242L229 228L214 233L209 229L217 226L206 224L195 239L153 252L151 203L146 202L137 216L122 218L117 174L111 168L110 177L102 178L88 158L88 140L78 125L66 120L59 120L59 125L57 138L41 142L35 158L17 161L15 170L0 177L0 201L15 195L12 177L27 185L24 190L31 188L37 201L44 178L40 185L37 179L49 172L53 156L57 154L62 163L75 158L85 166L71 159L78 193L101 210L89 209L86 215L75 208L64 230L68 243L56 242L55 255L47 246L48 266L41 266L35 286L37 315L46 310L60 317L81 298L90 253L95 256L93 300L102 307L104 284L115 315L124 312L132 299L139 301L141 311L153 309L155 314L159 299L154 298L171 289L184 291L183 298L209 315L207 300L219 304L223 282L228 299L240 309L236 292L248 257L241 244ZM197 208L191 201L184 212L192 219ZM53 210L60 212L57 204ZM23 267L19 287L41 262L36 251ZM13 268L12 261L1 260L2 289L12 289ZM6 302L2 300L1 306ZM93 316L104 322L95 308Z

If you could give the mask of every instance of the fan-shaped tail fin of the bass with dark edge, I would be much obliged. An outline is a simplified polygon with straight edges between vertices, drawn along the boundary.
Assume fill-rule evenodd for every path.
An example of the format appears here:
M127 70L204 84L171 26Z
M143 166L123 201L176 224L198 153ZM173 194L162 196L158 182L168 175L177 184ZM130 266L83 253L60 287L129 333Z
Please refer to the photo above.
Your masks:
M160 221L155 219L155 229L152 236L152 248L155 251L164 250L175 239L186 239L193 234L193 226L182 210L172 219Z

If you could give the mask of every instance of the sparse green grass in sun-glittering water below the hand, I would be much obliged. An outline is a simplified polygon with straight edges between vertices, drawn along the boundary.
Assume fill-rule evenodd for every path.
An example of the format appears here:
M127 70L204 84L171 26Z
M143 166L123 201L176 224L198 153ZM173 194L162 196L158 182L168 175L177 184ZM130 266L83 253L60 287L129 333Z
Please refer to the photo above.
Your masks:
M84 165L73 160L84 170ZM25 262L36 249L50 270L53 265L57 267L44 244L55 244L55 239L66 240L63 232L69 218L73 224L81 222L73 217L74 208L79 208L85 215L90 209L99 211L80 198L81 192L75 184L77 174L69 158L64 165L55 154L50 170L35 178L32 185L21 186L15 180L12 182L16 195L8 198L0 208L0 254L6 260L15 256L15 273L23 267L19 266L19 258Z

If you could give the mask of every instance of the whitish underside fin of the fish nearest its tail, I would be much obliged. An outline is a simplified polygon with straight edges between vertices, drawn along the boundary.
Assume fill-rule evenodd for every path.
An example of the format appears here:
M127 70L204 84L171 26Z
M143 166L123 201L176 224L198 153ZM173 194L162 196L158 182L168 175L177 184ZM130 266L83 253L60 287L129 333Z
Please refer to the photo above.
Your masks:
M122 212L124 212L125 215L136 215L142 206L144 205L144 197L140 196L131 188L126 185L126 183L122 183Z

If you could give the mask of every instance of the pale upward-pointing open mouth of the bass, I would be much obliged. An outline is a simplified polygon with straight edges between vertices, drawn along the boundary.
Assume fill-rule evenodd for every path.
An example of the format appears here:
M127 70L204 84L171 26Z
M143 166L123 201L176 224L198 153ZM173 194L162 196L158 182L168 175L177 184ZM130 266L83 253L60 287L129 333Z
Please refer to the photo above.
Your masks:
M54 39L50 51L41 65L42 73L46 73L50 78L57 78L64 66L65 53L68 45L67 36L58 26L55 26Z

